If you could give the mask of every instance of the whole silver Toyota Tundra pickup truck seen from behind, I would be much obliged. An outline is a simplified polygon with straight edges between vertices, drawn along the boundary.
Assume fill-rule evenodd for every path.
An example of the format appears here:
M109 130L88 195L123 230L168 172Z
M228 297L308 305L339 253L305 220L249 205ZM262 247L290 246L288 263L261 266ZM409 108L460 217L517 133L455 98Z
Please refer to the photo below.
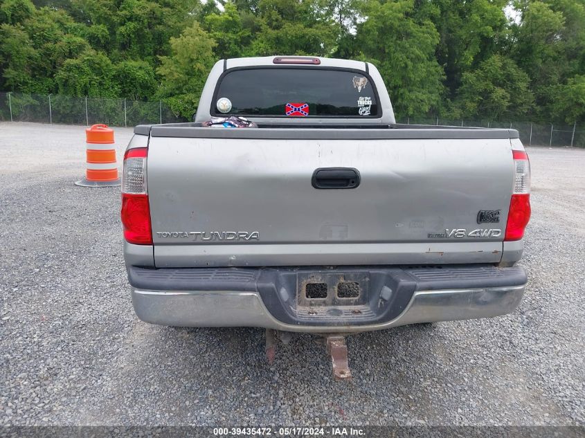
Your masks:
M227 116L258 127L202 126ZM122 221L141 320L343 335L521 301L518 132L399 125L368 62L222 60L194 122L134 134Z

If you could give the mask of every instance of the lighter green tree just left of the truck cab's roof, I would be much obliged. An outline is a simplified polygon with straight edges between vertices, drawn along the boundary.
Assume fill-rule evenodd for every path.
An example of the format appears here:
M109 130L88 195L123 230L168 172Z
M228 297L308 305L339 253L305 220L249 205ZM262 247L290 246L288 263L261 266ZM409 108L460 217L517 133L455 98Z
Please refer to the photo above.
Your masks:
M215 62L215 42L199 24L193 23L177 38L170 39L170 56L162 56L156 69L161 78L159 97L172 111L190 118L199 104L199 95Z

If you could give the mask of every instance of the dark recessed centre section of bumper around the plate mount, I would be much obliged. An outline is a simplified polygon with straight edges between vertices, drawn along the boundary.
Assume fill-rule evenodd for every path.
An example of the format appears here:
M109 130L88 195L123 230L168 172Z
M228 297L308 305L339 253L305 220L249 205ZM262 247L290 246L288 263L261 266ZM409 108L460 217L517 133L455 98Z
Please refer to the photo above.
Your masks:
M339 266L267 269L256 288L273 316L294 325L374 324L399 315L416 282L402 268Z

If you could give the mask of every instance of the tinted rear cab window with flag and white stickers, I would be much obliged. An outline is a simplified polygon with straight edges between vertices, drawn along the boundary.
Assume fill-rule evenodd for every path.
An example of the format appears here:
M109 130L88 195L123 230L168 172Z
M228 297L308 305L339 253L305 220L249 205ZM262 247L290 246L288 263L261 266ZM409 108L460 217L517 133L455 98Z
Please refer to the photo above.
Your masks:
M361 71L277 67L228 70L210 113L251 117L380 117L377 91Z

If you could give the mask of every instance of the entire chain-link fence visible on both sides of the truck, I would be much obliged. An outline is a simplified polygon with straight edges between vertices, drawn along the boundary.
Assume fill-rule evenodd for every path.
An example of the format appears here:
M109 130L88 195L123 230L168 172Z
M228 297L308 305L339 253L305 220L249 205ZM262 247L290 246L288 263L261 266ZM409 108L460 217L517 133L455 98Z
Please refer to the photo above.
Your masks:
M72 98L65 95L0 93L0 121L133 127L150 123L186 122L174 116L162 101L127 99ZM547 125L531 122L493 122L489 120L447 120L443 118L406 118L409 125L440 125L517 129L525 145L585 147L585 127Z

